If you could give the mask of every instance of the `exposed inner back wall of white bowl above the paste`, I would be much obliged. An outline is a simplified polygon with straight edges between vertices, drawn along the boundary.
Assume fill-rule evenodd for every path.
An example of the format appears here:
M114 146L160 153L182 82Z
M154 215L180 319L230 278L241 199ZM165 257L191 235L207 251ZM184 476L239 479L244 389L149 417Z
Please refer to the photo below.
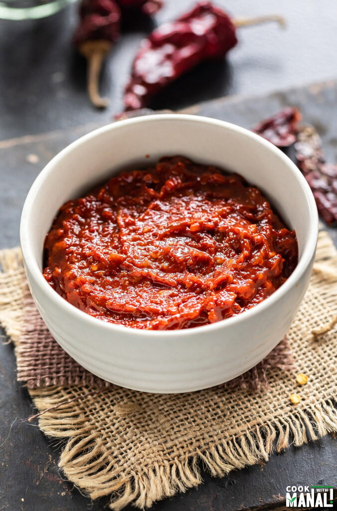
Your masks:
M45 167L22 213L21 244L26 262L32 258L41 270L45 235L65 201L81 196L122 169L145 168L161 156L178 154L237 172L256 185L284 222L296 230L301 258L308 240L314 239L315 203L291 160L243 128L166 114L120 121L92 132Z

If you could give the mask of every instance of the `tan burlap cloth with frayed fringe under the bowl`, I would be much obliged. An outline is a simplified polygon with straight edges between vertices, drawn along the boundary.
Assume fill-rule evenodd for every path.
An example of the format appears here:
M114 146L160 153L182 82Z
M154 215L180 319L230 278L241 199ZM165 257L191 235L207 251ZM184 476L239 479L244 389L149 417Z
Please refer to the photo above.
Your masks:
M27 323L19 250L0 253L0 262L0 321L18 353ZM309 289L287 334L292 367L274 360L268 388L148 394L88 383L38 387L33 379L39 427L65 440L60 467L91 498L110 495L115 510L129 503L149 507L199 484L201 467L222 476L267 461L273 449L337 431L336 313L337 255L322 231ZM309 377L306 385L297 385L298 373ZM301 397L298 405L290 402L293 393Z

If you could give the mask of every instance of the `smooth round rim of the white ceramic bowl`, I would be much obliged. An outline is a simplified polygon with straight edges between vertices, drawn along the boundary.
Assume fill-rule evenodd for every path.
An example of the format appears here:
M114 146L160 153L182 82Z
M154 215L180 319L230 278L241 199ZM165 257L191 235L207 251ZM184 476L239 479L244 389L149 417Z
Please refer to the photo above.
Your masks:
M61 295L55 292L54 289L46 282L44 279L42 272L38 266L38 262L36 261L33 255L32 243L30 240L30 228L29 228L29 220L34 207L35 197L40 190L41 185L44 180L53 172L55 165L57 165L68 153L78 148L79 146L86 144L89 140L95 137L100 137L102 134L118 129L122 126L128 126L132 124L143 124L147 122L156 122L156 121L188 121L188 122L197 122L203 124L212 124L219 127L223 127L227 130L236 131L240 134L243 134L247 137L252 138L256 143L264 146L267 150L273 152L278 158L283 160L284 164L291 169L291 171L296 175L296 178L300 181L301 188L306 198L306 203L308 207L309 218L308 221L311 225L307 242L303 249L303 253L301 255L300 260L297 263L296 268L293 273L287 278L287 280L270 296L266 299L262 300L259 304L254 307L248 309L243 314L237 314L227 319L223 319L221 321L217 321L215 323L205 324L200 327L193 327L188 329L180 329L180 330L147 330L147 329L136 329L131 327L126 327L123 325L118 325L116 323L102 321L102 319L96 318L87 314L84 311L81 311L74 305L68 303ZM40 291L43 294L47 295L47 298L50 299L57 309L61 309L65 314L73 314L79 321L87 322L88 326L97 327L101 329L106 329L112 333L124 333L133 336L140 337L162 337L166 338L171 336L176 336L178 333L184 337L194 336L198 334L207 334L211 333L211 331L219 330L223 328L229 328L232 325L247 321L250 318L263 313L266 309L272 307L276 301L284 296L290 289L296 285L297 282L301 280L301 277L305 273L307 267L310 265L311 259L316 250L316 244L318 239L318 212L315 203L314 196L309 188L308 183L306 182L304 176L294 164L294 162L288 158L280 149L276 146L265 140L260 135L253 133L252 131L243 128L241 126L237 126L236 124L229 123L227 121L221 121L218 119L213 119L209 117L203 117L201 115L191 115L191 114L179 114L179 113L154 113L150 115L145 115L143 117L134 117L131 119L125 119L121 121L117 121L114 123L110 123L101 128L95 129L86 135L81 136L73 143L66 146L62 149L56 156L54 156L49 163L41 170L41 172L35 178L28 195L26 197L25 203L23 204L21 220L20 220L20 245L23 256L23 262L26 268L29 270L30 277L34 279L35 284L40 288Z

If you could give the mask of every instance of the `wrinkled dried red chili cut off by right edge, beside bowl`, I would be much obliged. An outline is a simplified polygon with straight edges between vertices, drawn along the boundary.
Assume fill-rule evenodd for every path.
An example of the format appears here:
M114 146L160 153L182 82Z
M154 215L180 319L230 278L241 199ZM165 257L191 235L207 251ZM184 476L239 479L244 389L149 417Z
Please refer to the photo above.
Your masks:
M333 225L337 222L337 165L326 164L321 138L314 126L299 127L295 156L321 217L328 225Z

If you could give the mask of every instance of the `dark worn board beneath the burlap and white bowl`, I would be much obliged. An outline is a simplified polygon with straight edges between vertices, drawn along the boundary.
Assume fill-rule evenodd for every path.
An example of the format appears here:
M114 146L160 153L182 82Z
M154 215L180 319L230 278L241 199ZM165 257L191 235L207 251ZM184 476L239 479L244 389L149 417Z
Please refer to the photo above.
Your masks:
M303 122L318 129L329 161L337 161L337 82L275 92L267 97L231 97L183 110L252 127L285 105L300 108ZM149 113L149 112L142 112ZM36 175L61 149L99 127L81 126L59 132L0 142L0 248L19 242L20 212ZM337 244L337 229L329 229ZM59 443L48 440L25 420L32 413L28 393L15 381L10 345L0 345L0 511L99 511L57 468ZM264 466L232 472L221 479L205 474L205 484L154 505L152 511L234 511L281 509L288 484L328 484L337 487L335 439L328 435L299 449L274 454ZM23 500L22 500L23 499ZM130 511L131 507L127 508Z

